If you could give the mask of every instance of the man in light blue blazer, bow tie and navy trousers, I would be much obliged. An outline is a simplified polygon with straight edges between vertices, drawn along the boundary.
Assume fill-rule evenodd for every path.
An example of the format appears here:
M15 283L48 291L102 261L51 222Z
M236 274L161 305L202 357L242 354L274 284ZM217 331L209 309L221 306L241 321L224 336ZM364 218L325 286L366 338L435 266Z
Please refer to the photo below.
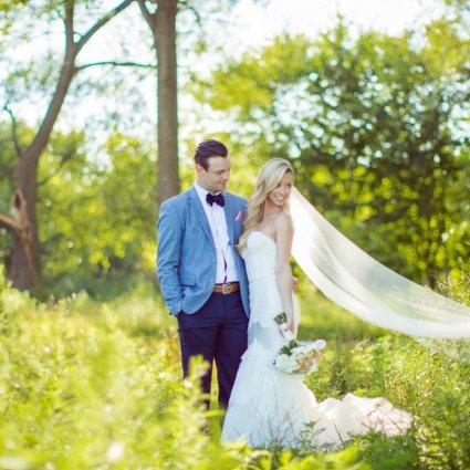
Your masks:
M195 164L192 187L160 207L157 275L178 318L184 376L190 357L201 355L210 365L201 379L209 397L216 361L219 405L227 407L247 349L248 281L234 248L247 201L226 191L231 161L221 142L201 142Z

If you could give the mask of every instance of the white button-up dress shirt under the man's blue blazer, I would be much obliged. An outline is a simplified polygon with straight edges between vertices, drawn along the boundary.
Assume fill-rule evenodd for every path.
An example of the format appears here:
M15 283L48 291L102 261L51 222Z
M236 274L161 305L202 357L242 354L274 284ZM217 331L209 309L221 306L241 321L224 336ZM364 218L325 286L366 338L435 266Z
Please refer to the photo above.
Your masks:
M216 284L226 282L237 282L238 273L234 262L233 251L234 248L230 244L229 234L227 231L227 220L223 207L213 203L210 206L206 201L208 190L201 188L195 182L196 192L199 196L207 219L209 221L210 231L212 232L213 242L216 244L217 253L217 274ZM227 269L224 264L227 263Z

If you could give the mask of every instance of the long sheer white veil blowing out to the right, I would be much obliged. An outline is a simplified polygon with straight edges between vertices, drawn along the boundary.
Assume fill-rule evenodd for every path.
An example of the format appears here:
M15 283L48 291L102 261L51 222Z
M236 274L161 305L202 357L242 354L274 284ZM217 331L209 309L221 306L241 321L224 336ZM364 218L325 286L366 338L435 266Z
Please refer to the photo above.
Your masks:
M450 343L470 338L470 307L374 260L295 188L290 207L295 226L292 253L307 278L333 302L366 322L417 338Z

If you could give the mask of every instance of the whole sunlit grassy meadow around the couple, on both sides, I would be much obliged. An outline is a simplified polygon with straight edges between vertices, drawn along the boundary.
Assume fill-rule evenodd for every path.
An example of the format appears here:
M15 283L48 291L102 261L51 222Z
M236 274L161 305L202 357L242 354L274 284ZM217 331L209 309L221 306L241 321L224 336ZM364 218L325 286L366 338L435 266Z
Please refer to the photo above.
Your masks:
M180 379L176 322L152 284L39 302L1 281L0 469L470 469L470 366L300 291L300 337L328 343L306 378L317 399L384 396L416 417L406 436L222 447L220 414L198 401L203 365ZM469 300L463 283L452 294Z

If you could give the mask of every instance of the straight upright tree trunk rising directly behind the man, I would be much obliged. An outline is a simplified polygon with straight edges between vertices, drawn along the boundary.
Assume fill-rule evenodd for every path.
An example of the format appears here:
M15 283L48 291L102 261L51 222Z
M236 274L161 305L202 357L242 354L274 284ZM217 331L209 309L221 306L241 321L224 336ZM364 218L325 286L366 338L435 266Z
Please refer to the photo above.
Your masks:
M158 77L158 203L179 192L176 65L177 0L159 0L154 31Z

